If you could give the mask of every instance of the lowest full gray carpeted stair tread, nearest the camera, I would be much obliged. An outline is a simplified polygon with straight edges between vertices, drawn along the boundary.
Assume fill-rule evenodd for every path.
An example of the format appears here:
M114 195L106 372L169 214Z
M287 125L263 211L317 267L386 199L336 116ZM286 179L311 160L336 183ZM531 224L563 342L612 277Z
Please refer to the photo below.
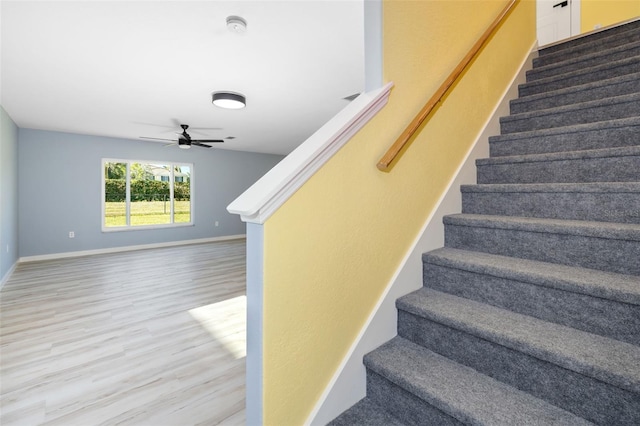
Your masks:
M366 355L365 365L465 424L591 424L401 337Z

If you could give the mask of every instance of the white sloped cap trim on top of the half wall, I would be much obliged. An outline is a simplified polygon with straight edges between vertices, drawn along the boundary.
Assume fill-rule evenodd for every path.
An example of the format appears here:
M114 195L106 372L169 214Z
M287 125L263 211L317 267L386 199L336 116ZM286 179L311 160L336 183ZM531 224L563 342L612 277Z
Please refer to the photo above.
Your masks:
M227 211L244 222L264 223L356 134L389 99L393 83L363 93L236 198Z

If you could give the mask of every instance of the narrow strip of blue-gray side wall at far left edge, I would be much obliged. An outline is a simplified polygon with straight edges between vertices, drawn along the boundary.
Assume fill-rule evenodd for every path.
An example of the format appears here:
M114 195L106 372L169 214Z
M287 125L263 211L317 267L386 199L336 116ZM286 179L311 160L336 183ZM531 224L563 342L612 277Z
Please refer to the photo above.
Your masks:
M0 106L0 285L18 261L18 128Z

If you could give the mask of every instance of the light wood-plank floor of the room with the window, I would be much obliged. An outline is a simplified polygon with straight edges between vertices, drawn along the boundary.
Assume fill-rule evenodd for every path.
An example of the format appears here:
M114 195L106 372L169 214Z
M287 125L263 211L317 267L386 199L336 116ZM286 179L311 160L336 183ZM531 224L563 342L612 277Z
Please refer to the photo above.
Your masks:
M0 424L245 422L245 240L19 264Z

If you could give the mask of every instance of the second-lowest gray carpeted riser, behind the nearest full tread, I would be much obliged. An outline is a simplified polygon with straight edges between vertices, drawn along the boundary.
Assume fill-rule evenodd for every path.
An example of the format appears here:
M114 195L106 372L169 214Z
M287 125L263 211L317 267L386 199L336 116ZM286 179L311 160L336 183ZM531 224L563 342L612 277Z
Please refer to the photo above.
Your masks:
M398 334L587 420L607 425L640 420L638 395L469 333L399 310Z

